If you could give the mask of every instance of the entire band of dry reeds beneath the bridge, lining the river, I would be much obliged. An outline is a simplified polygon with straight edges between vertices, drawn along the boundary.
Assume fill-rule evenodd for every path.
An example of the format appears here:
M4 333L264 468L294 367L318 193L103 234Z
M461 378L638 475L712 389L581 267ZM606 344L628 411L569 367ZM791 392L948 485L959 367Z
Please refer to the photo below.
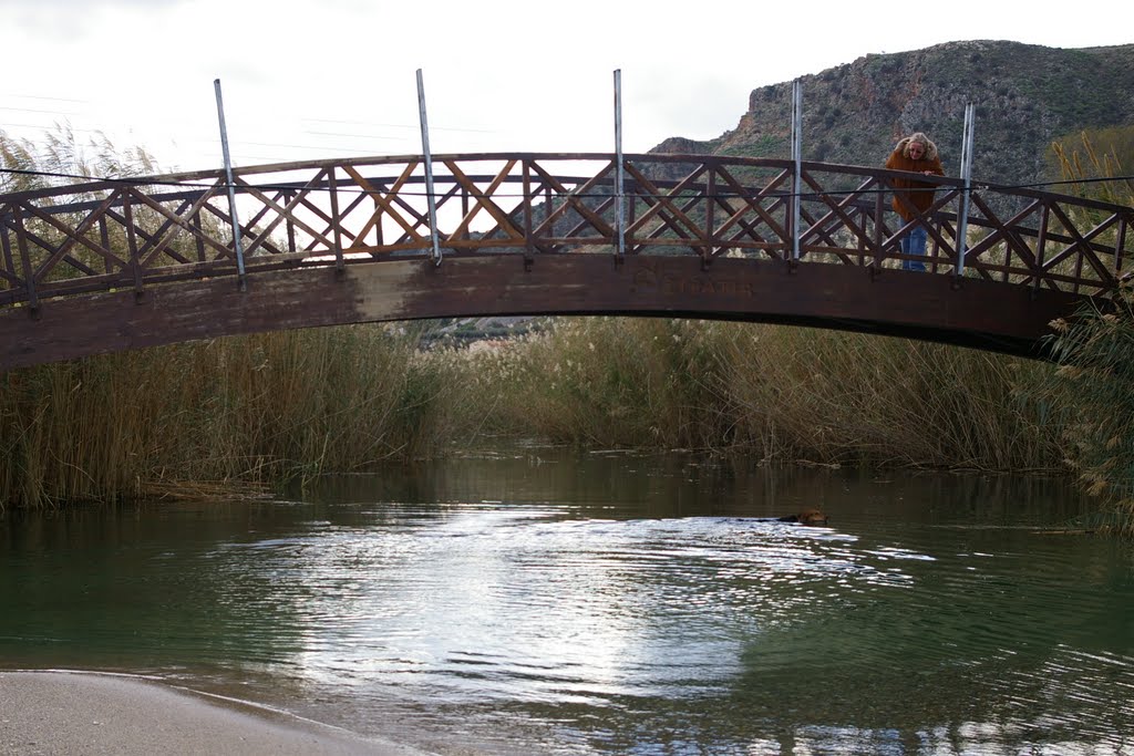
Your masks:
M562 318L473 349L378 325L217 339L0 379L7 506L192 495L484 444L761 461L1065 465L1050 366L854 333Z

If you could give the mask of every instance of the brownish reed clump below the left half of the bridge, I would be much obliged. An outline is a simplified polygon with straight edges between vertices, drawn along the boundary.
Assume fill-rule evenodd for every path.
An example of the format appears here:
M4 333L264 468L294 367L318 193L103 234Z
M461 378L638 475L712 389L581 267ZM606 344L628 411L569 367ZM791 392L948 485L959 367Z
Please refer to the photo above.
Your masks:
M192 494L434 455L459 435L459 368L349 326L12 371L0 376L0 503Z

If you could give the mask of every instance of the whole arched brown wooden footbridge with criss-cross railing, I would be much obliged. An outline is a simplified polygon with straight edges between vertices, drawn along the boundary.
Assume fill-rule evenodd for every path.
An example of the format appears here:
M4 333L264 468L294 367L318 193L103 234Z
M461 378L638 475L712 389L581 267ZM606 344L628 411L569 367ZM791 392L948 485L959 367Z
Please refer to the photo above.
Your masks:
M471 154L0 195L0 371L256 331L524 314L796 323L1039 357L1052 318L1129 277L1134 209L925 177L934 203L905 223L888 194L900 176ZM919 224L925 273L900 270L899 239Z

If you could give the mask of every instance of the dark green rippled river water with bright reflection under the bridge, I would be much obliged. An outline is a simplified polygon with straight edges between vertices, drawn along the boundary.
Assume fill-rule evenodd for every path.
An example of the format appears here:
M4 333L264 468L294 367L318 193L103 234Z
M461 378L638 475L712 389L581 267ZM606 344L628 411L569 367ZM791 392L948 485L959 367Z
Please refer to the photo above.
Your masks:
M759 518L818 507L828 527ZM555 449L0 517L0 664L441 754L1134 754L1134 555L1049 481Z

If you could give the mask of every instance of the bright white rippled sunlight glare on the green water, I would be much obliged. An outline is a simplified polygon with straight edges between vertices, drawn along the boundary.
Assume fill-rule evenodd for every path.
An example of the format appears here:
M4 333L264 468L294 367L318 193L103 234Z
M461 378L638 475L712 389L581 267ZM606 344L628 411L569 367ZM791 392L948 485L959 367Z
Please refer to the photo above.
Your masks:
M824 575L900 580L820 529L550 517L469 507L413 544L354 529L280 544L260 569L287 564L277 597L320 628L296 672L379 673L450 703L674 694L705 665L738 666L744 638L777 621L738 608L806 603L809 581ZM773 602L764 586L775 584L786 594Z

